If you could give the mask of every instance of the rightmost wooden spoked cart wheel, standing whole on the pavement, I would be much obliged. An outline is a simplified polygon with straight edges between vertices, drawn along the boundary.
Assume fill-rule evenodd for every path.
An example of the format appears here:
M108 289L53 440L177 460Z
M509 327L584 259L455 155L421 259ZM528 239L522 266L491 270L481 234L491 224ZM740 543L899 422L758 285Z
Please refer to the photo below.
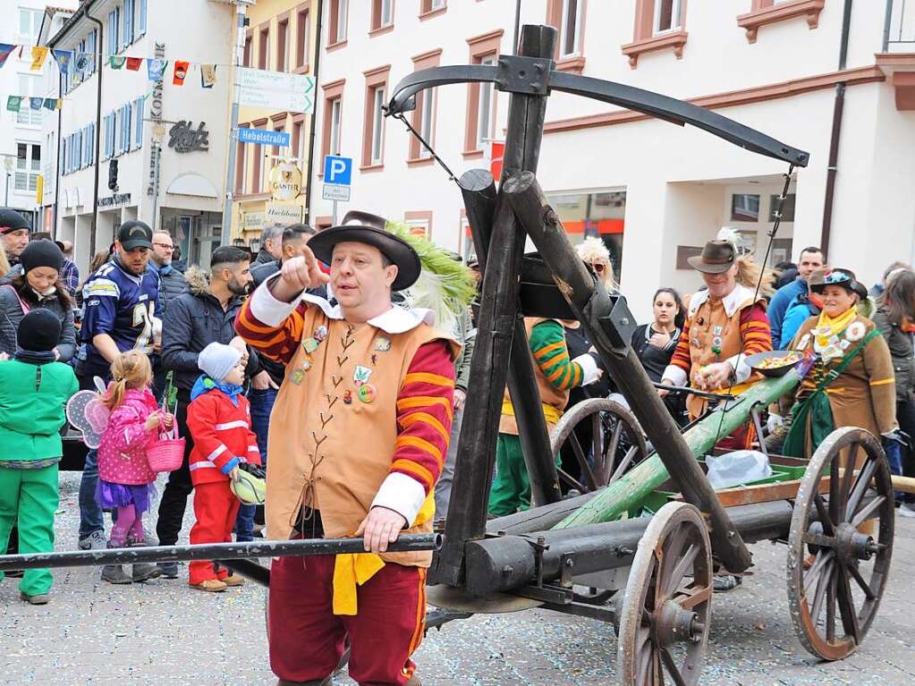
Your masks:
M818 658L850 655L877 616L893 552L894 507L877 439L853 426L829 434L807 466L788 540L791 622Z

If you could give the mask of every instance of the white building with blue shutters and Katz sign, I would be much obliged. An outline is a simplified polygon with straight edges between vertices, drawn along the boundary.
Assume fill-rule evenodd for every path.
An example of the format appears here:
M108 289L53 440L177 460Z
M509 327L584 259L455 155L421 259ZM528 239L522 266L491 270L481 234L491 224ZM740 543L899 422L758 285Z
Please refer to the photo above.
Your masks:
M81 270L136 219L168 230L188 263L209 262L221 241L233 20L232 5L211 0L84 0L48 38L74 51L54 198L56 236L73 241ZM148 59L167 60L161 80L148 78ZM183 85L176 60L189 63ZM200 65L216 66L211 88Z

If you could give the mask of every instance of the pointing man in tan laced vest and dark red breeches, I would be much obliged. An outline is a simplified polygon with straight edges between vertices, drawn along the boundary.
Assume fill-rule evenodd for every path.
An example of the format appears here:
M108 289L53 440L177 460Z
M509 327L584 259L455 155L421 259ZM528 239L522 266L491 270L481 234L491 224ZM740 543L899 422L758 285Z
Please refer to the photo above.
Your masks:
M432 531L458 346L428 310L391 304L421 267L384 225L348 213L261 284L236 321L286 368L270 423L268 537L355 535L371 552L274 561L270 658L280 684L329 681L346 638L355 681L419 683L410 657L423 638L432 554L386 550L402 532ZM338 305L306 293L328 280Z

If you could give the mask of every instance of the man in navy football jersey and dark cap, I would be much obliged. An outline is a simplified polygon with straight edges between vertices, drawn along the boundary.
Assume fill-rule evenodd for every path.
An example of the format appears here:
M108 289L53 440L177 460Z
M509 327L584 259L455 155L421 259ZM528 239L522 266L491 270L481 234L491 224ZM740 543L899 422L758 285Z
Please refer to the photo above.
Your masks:
M81 389L94 389L93 377L107 380L113 360L124 350L158 352L153 343L153 319L159 280L146 264L153 250L153 230L142 221L121 225L112 259L102 264L83 285L80 338L85 354L77 363ZM86 456L80 483L80 548L105 547L102 509L95 502L99 468L95 451Z

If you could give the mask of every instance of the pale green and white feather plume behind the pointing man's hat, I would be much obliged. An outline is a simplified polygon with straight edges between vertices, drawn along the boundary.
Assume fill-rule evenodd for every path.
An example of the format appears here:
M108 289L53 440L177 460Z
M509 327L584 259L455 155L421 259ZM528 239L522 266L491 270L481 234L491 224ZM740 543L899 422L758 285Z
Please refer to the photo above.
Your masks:
M467 311L477 289L470 270L432 241L410 232L402 221L388 220L384 227L413 246L423 270L415 284L402 292L407 305L425 307L436 313L436 327L457 332L458 319Z

